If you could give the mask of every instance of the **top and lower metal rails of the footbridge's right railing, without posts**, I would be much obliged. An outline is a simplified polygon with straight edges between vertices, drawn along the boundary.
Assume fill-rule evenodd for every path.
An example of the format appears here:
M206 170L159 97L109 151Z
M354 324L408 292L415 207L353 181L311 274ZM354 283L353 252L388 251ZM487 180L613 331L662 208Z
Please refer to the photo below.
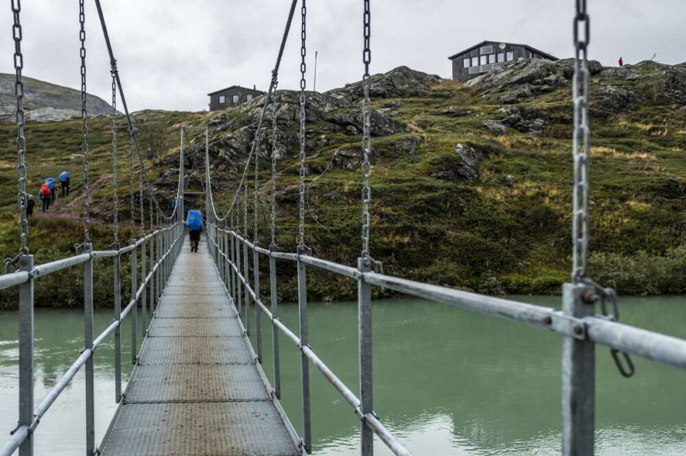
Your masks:
M602 316L571 316L565 312L558 311L552 307L544 307L541 305L533 305L530 303L523 303L520 301L512 301L510 299L498 298L495 296L486 296L474 292L466 292L463 290L456 290L443 286L431 285L418 281L408 279L401 279L390 275L375 273L368 270L360 270L351 266L345 266L336 262L331 262L326 259L321 259L312 255L303 255L298 253L286 253L279 251L269 251L259 246L255 246L252 242L247 240L244 236L231 230L220 229L213 224L209 224L214 230L209 230L208 239L213 246L213 258L217 261L217 268L219 264L224 262L230 271L230 277L226 278L222 275L222 280L228 281L226 288L228 293L236 301L233 293L240 288L245 290L249 300L259 308L258 313L265 314L270 319L272 326L277 331L281 331L289 340L291 340L309 359L309 362L314 364L322 375L331 383L333 388L337 390L348 404L353 407L355 414L364 422L364 424L372 429L379 438L390 448L396 455L410 455L411 453L397 440L397 438L383 426L381 421L372 413L362 414L360 401L355 394L351 392L347 386L340 381L329 367L322 362L322 360L314 353L314 351L307 344L303 344L298 335L291 331L286 325L274 314L270 312L267 306L263 303L259 296L259 290L255 290L250 283L250 279L246 279L246 271L243 269L247 267L247 259L245 264L241 266L237 261L235 253L239 253L239 245L244 244L255 255L255 267L253 270L259 270L259 263L257 260L259 255L266 255L270 257L270 283L275 279L275 270L272 270L272 265L275 265L274 259L285 259L289 261L296 261L298 264L307 264L314 266L321 270L327 270L337 275L356 279L360 282L368 283L370 286L378 286L386 288L403 294L409 294L422 299L427 299L433 302L446 303L456 307L473 310L482 314L490 316L497 316L499 318L506 318L523 322L525 324L549 329L551 331L560 333L561 335L571 338L572 340L588 340L595 344L608 346L613 350L622 351L624 353L631 353L650 359L654 362L674 366L681 370L686 370L686 340L670 337L653 331L646 331L628 325L622 325L619 322L611 320ZM229 243L226 240L220 240L217 243L215 238L211 236L212 232L227 233L230 236L230 247L233 249L235 245L235 252L229 251ZM234 242L235 241L235 242ZM243 255L243 254L241 254ZM248 257L250 255L248 254ZM298 266L298 275L300 275L300 266ZM255 279L257 280L257 279ZM298 280L298 293L301 290L301 281ZM257 286L257 283L255 284ZM273 287L272 283L272 287ZM272 294L275 288L272 288ZM272 309L275 310L274 296L272 296ZM246 319L248 318L248 311L246 309ZM238 318L241 318L239 315ZM302 319L303 316L301 315ZM248 320L249 322L249 320ZM301 320L302 324L302 320ZM247 328L247 327L246 327ZM261 340L261 327L257 325L257 343L258 348ZM272 342L274 343L274 342ZM274 349L274 356L278 358L278 351ZM258 355L259 357L259 355ZM276 360L274 361L276 363ZM276 366L274 368L276 374ZM279 382L278 377L275 379ZM309 401L309 399L308 399Z

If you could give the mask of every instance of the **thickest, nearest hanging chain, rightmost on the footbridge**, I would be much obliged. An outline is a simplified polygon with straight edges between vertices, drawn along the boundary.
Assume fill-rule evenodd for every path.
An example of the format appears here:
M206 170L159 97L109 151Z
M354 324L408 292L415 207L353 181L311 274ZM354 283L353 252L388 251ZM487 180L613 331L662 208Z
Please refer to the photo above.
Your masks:
M588 275L589 250L589 66L587 47L590 39L590 18L586 12L586 0L576 0L574 17L574 75L572 97L574 102L574 132L572 153L574 160L573 190L573 270L574 283L580 283ZM583 36L579 36L580 29ZM580 144L581 142L581 144Z

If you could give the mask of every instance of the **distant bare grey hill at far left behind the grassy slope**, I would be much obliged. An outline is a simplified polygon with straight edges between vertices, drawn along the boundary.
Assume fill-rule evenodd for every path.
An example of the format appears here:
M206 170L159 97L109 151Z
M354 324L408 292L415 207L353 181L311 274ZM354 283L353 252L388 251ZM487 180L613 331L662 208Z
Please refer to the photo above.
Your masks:
M81 92L72 88L23 77L24 110L29 121L64 121L81 116ZM13 122L16 111L13 74L0 73L0 122ZM86 94L88 116L112 111L112 105Z

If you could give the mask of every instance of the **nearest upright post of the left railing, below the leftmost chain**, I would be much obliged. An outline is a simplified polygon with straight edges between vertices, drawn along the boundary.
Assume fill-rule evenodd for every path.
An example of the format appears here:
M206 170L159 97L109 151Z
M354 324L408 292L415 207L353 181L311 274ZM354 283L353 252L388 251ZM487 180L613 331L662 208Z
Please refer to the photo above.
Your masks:
M30 272L34 255L22 255L19 270ZM19 426L34 421L34 281L19 286ZM19 446L19 456L34 454L34 433Z

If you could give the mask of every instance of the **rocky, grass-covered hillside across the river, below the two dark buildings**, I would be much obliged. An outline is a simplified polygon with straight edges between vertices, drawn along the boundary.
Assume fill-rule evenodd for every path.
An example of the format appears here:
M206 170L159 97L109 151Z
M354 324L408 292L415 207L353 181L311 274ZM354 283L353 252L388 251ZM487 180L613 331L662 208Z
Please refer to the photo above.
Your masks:
M572 65L518 60L465 83L406 67L372 77L370 248L387 273L488 293L560 292L571 269ZM686 292L686 65L590 67L592 276L622 293ZM355 264L360 250L361 96L359 83L307 92L306 242L316 255L344 264ZM274 150L276 244L287 251L295 249L298 231L299 97L279 90L276 144L268 110L258 149L259 241L269 244ZM141 131L154 127L174 140L149 164L161 198L176 188L180 125L209 125L213 194L220 213L226 212L263 103L259 97L223 112L134 116ZM78 152L79 123L27 125L29 186L65 166L71 166L76 183L73 199L58 199L57 205L59 214L75 220L31 220L36 262L71 251L82 237L80 162L68 153ZM126 144L120 124L119 144ZM8 138L14 134L10 125L0 130ZM89 123L91 213L96 247L102 248L112 242L108 131L104 118ZM197 152L202 170L204 136L188 139L187 169ZM12 165L14 155L14 143L8 142L0 161ZM128 220L127 171L119 176L120 216ZM1 247L10 256L19 242L15 168L0 168L0 178ZM252 183L248 188L252 205ZM187 207L193 205L204 207L191 197ZM252 210L248 214L252 227ZM281 297L295 299L295 271L288 264L279 267ZM349 299L357 286L316 270L308 270L308 283L311 299ZM111 283L102 287L108 295Z

